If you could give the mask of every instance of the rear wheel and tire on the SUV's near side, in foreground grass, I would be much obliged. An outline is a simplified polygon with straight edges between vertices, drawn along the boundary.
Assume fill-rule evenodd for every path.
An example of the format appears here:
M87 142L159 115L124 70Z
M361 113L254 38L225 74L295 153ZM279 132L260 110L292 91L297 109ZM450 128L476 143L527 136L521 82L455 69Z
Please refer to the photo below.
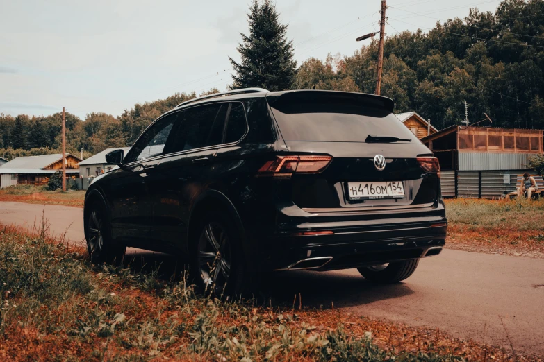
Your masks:
M190 277L197 291L218 298L241 295L248 273L236 223L224 212L209 212L192 235Z

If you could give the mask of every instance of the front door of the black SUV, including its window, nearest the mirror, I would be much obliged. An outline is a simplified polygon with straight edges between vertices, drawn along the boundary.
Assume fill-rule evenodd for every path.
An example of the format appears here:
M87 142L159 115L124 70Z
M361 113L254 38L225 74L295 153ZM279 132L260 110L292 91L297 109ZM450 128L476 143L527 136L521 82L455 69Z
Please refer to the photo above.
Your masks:
M149 180L168 137L176 129L177 114L158 119L140 136L110 182L112 234L127 245L148 248L151 239Z

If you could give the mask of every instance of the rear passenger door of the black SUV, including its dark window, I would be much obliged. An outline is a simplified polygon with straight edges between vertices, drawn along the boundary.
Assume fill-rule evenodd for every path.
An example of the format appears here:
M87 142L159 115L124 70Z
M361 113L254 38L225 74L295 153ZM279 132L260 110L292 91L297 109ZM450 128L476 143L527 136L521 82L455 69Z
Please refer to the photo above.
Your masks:
M229 103L212 103L180 113L172 153L160 160L152 177L151 234L157 250L186 250L190 205L209 187L228 110Z

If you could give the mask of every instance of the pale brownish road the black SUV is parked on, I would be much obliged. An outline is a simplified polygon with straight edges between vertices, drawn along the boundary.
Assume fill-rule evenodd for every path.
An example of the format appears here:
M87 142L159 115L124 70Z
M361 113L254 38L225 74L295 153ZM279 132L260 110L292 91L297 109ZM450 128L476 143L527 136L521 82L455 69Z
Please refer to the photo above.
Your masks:
M0 223L33 225L42 205L0 202ZM83 241L83 209L45 206L51 231ZM69 226L68 226L69 225ZM134 250L133 250L134 252ZM158 258L164 258L157 255ZM445 250L422 259L402 284L376 286L357 270L286 272L272 279L270 295L304 305L346 309L356 315L439 328L459 338L544 355L544 261ZM509 341L510 340L510 341Z

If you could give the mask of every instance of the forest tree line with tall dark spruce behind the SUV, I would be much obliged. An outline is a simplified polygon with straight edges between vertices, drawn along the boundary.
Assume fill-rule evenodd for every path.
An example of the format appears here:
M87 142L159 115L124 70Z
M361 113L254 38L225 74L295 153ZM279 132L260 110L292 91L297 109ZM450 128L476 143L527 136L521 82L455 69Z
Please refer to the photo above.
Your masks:
M232 89L332 89L373 93L378 43L353 55L309 58L297 67L288 26L269 0L249 8L249 33L231 59ZM413 20L412 20L413 21ZM393 29L386 25L386 31ZM384 46L381 94L393 98L395 112L415 110L438 129L465 118L493 119L493 126L544 128L544 0L505 0L495 12L470 9L464 19L449 19L427 33L388 34ZM208 93L217 92L211 89ZM94 154L131 146L151 121L196 96L176 93L136 104L118 117L90 113L85 120L67 114L68 150ZM0 157L60 150L60 113L47 117L0 114Z

